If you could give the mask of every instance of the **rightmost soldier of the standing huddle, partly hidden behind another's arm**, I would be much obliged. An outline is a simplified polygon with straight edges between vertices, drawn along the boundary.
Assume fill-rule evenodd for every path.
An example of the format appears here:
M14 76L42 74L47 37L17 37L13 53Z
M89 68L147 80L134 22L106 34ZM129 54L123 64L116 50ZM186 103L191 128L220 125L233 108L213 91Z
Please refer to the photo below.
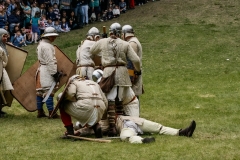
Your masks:
M124 25L122 27L122 39L127 41L133 50L137 53L139 59L140 59L140 65L142 68L142 45L139 42L138 38L134 35L134 30L132 26L130 25ZM142 82L142 75L136 76L134 74L134 67L132 65L132 62L128 60L128 72L132 81L132 89L139 99L139 96L143 94L143 82Z

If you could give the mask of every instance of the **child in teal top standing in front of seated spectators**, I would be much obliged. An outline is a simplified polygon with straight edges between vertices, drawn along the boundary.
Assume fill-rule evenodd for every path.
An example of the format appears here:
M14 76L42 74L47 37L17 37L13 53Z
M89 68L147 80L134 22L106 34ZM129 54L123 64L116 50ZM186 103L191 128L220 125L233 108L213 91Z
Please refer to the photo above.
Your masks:
M32 24L32 41L34 43L38 43L37 40L38 40L38 35L40 33L40 30L39 30L39 25L40 25L40 12L36 12L35 13L35 16L32 17L30 23Z

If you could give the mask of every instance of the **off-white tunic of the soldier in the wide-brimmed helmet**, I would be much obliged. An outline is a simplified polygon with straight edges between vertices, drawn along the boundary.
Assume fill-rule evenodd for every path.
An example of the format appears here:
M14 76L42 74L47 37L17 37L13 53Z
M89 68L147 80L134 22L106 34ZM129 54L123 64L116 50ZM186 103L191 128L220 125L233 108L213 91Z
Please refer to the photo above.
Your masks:
M49 89L54 82L53 74L57 73L57 59L55 57L55 48L48 39L42 39L37 47L37 56L39 68L37 74L40 74L40 84L42 89Z

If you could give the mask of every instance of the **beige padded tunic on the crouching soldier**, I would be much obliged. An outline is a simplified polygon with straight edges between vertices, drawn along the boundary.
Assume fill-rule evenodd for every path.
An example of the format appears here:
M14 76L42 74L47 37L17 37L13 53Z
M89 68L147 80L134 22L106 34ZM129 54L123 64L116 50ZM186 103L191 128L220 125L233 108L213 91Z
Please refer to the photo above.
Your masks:
M74 80L68 87L65 111L78 120L81 126L99 122L107 109L107 99L96 82L91 80Z

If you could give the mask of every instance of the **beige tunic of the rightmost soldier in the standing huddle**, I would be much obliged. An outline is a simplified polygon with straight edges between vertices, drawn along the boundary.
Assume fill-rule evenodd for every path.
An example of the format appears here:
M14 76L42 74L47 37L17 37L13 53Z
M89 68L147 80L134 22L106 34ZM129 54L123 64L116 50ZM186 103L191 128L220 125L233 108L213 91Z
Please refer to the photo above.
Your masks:
M128 42L130 43L133 50L137 53L140 59L140 66L142 69L142 45L136 37L131 37ZM135 95L139 96L143 93L143 82L142 82L142 75L138 77L138 81L132 85L132 89Z

